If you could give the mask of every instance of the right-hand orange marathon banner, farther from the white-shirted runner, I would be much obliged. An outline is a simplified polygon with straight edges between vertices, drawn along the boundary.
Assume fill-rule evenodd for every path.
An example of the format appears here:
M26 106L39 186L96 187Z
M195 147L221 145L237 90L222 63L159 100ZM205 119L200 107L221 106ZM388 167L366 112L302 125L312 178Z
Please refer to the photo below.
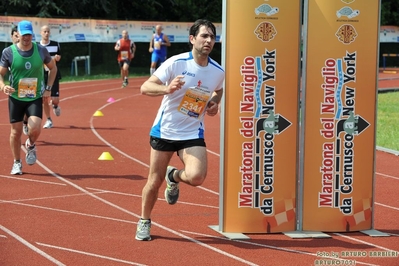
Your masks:
M303 230L372 227L379 4L308 0Z

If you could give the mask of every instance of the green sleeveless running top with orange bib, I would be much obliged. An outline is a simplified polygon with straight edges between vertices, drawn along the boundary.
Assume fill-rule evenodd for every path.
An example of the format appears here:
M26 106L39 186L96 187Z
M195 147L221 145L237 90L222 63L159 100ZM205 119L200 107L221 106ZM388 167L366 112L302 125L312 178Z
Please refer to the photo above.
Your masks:
M12 64L12 86L15 92L11 97L19 101L34 101L42 97L44 88L43 59L40 56L36 43L32 42L33 53L29 57L21 56L15 47L11 45Z

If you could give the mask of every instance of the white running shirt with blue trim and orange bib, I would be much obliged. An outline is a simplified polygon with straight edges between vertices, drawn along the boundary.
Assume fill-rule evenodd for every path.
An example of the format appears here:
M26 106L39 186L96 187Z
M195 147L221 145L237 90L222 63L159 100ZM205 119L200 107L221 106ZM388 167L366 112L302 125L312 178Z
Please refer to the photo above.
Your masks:
M184 75L184 86L164 95L150 135L168 140L204 138L204 114L214 91L221 90L224 70L209 58L208 65L199 66L191 52L167 59L155 72L163 83Z

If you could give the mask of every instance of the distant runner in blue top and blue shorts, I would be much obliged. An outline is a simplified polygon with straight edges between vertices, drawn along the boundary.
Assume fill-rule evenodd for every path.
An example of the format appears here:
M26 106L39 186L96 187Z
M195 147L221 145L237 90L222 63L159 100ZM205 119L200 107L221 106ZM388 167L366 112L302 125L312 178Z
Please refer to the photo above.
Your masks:
M150 75L154 74L155 69L165 62L167 47L170 46L169 38L163 34L162 30L162 26L157 25L150 41L150 48L148 49L151 53Z

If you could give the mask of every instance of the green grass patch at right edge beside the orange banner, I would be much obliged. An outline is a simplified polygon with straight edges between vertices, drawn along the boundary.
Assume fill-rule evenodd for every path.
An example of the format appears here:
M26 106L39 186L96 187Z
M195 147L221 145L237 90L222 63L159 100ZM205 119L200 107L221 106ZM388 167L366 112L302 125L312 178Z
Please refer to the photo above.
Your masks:
M399 92L378 94L377 146L399 151Z

